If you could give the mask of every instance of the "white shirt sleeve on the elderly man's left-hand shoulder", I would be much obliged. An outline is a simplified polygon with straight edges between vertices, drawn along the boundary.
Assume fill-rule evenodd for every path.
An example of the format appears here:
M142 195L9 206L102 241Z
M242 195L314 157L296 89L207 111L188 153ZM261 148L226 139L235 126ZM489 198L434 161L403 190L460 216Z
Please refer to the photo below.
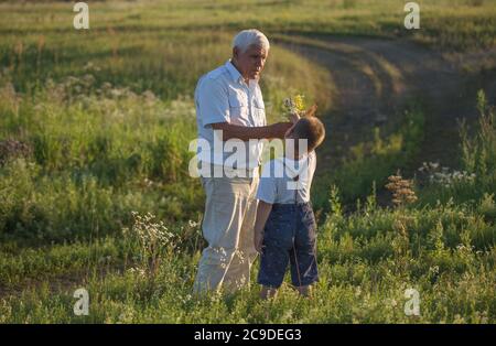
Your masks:
M216 122L229 122L228 93L218 79L205 78L202 82L198 109L203 127Z

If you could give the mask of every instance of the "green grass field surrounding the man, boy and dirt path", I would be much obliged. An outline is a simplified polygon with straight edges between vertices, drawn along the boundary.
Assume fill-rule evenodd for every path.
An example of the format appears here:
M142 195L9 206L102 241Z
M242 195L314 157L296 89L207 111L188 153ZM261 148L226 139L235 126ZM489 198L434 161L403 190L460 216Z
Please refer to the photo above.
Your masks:
M187 173L197 78L252 26L269 40L496 46L493 1L418 2L422 30L407 32L393 0L101 1L90 3L88 31L72 26L72 2L0 1L0 323L495 323L496 127L482 91L477 127L461 126L459 166L419 176L416 203L379 203L374 182L419 154L421 102L319 175L312 300L284 284L259 301L257 266L251 290L191 295L205 246L204 195ZM296 93L323 115L333 107L333 80L282 45L261 87L269 122ZM73 312L79 288L87 316ZM420 294L420 316L405 314L407 289Z

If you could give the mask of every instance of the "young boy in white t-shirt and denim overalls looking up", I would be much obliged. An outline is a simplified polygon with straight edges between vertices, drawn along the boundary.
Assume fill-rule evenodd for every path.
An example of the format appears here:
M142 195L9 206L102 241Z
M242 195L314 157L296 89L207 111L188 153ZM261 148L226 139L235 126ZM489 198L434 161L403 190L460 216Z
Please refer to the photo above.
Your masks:
M310 285L319 280L310 187L316 165L314 149L324 137L317 118L302 118L285 133L284 156L263 166L254 239L261 255L258 283L262 299L276 296L289 262L292 284L300 294L308 296ZM281 170L282 174L276 174Z

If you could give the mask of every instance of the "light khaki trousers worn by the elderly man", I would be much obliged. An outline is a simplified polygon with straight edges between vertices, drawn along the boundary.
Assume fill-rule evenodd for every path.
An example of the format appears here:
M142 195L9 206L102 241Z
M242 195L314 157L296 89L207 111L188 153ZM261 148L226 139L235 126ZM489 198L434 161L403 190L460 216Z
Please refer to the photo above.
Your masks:
M231 169L225 169L230 170ZM234 292L250 281L257 251L254 227L257 213L258 170L252 177L202 177L206 194L202 252L193 291Z

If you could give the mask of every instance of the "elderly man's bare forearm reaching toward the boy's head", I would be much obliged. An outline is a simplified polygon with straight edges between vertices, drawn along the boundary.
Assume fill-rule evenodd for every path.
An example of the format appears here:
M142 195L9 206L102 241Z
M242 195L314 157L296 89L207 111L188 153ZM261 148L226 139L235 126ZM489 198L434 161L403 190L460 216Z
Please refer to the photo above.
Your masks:
M283 139L285 131L288 131L291 126L291 122L276 122L262 127L245 127L231 125L229 122L216 122L212 125L212 128L214 130L223 130L223 141L228 141L229 139L248 141L250 139Z

